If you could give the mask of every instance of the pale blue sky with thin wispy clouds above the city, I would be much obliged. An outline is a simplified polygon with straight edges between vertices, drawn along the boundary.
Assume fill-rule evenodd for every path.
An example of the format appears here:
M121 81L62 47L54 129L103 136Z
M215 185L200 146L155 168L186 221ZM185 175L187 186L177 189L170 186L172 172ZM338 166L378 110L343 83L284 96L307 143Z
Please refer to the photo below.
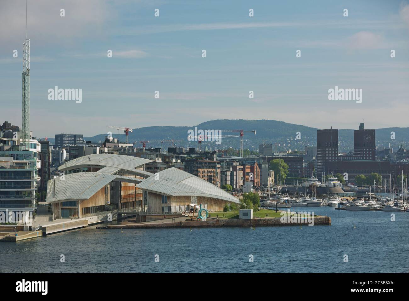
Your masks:
M0 122L18 126L25 5L0 0ZM36 137L214 119L409 126L405 1L28 0L27 19ZM55 86L81 103L49 100ZM329 100L335 86L362 103Z

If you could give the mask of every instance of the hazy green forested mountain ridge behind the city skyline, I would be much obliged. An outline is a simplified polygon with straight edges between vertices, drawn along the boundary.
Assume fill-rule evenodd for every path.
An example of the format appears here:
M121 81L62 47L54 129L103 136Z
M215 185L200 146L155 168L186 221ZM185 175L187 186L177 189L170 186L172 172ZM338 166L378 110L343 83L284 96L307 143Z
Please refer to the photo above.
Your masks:
M357 124L358 125L358 124ZM173 127L173 126L153 126L153 127L141 127L133 129L132 133L129 133L129 142L137 142L139 140L151 140L147 146L169 146L170 143L160 143L159 140L175 140L176 145L180 146L197 146L195 141L189 142L187 140L188 130L194 129L243 129L245 131L256 130L257 134L252 133L244 134L245 147L258 148L258 144L261 143L290 143L294 149L295 146L303 145L316 145L317 144L317 128L308 127L301 124L292 124L288 122L278 120L210 120L202 122L198 125L185 126L185 127ZM120 141L125 140L125 134L116 134L116 130L111 130L114 138L119 138ZM340 151L344 151L343 148L353 148L353 129L339 129L338 140L340 142ZM391 140L391 132L395 132L396 140ZM107 131L108 132L108 131ZM116 131L118 132L118 131ZM122 132L122 131L120 131ZM301 140L295 141L297 132L301 134ZM234 133L231 133L234 134ZM222 135L230 135L229 132L222 132ZM84 140L91 140L94 143L104 141L107 134L99 134L93 137L84 137ZM294 139L291 141L291 139ZM238 147L240 142L239 138L223 138L222 144L215 145L214 142L204 142L203 144L211 145L211 147L224 148L224 147ZM290 141L289 141L290 140ZM409 141L409 127L389 127L383 129L376 129L376 141L378 144L393 143L400 145L400 141L407 143ZM154 142L156 141L156 142ZM297 142L297 143L296 143ZM301 143L301 144L300 144ZM282 145L281 145L282 146ZM280 146L280 147L281 147ZM252 150L252 149L251 149Z

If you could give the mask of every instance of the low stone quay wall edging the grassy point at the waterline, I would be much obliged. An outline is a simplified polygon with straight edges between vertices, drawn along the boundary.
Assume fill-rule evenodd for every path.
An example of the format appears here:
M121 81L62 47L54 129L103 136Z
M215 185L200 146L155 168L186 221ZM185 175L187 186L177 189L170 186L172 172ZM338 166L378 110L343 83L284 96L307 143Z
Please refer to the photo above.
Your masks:
M330 225L330 217L314 217L314 226ZM251 220L225 219L206 221L182 221L182 222L161 222L161 223L136 223L100 226L97 229L141 229L141 228L171 228L171 227L241 227L241 226L308 226L308 220L301 222L282 222L280 218L253 218Z

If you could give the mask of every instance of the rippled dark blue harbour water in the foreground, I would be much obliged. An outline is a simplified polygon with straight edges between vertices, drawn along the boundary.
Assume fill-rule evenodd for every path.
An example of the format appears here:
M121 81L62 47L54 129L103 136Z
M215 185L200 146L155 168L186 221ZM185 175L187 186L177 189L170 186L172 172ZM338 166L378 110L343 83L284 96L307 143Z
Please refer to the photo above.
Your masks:
M409 272L409 212L395 212L392 222L390 212L297 210L328 215L332 225L124 233L91 226L0 242L0 272Z

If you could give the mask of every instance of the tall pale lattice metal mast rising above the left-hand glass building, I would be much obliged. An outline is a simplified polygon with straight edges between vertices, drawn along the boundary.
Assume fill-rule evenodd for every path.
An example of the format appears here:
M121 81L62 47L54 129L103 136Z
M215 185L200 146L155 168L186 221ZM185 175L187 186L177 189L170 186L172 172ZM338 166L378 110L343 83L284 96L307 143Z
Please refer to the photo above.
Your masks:
M26 1L26 41L23 43L22 73L22 145L30 148L30 39L27 38L27 1Z

